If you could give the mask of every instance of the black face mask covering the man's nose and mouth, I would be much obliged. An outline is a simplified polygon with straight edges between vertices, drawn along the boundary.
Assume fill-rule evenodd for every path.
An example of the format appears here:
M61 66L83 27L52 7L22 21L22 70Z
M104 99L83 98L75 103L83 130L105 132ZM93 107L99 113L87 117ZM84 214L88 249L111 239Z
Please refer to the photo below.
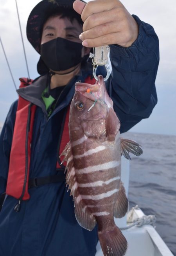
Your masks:
M41 44L41 59L53 71L63 71L81 63L82 44L57 37Z

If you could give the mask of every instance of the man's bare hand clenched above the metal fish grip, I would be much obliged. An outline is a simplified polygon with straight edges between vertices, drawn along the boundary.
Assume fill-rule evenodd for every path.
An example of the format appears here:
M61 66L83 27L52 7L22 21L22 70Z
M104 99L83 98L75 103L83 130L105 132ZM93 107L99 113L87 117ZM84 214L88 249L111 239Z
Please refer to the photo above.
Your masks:
M74 9L84 22L83 46L119 44L129 47L138 37L138 25L119 0L95 0L86 5L75 0Z

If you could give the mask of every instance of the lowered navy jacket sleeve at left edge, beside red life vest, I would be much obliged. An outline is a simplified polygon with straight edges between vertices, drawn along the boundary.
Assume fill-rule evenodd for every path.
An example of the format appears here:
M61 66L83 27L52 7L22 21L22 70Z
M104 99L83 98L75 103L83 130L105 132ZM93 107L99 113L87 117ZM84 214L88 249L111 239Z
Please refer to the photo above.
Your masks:
M9 158L11 152L17 105L18 101L15 101L11 105L4 126L0 133L0 195L6 190Z

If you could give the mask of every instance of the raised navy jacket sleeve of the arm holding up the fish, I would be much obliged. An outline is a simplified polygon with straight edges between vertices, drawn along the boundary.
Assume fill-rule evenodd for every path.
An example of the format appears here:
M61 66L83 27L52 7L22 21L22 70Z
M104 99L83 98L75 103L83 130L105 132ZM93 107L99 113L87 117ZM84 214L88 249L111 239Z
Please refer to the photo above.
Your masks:
M151 25L133 17L139 26L136 41L128 48L110 46L112 73L107 90L121 123L120 133L148 118L157 103L158 37Z

